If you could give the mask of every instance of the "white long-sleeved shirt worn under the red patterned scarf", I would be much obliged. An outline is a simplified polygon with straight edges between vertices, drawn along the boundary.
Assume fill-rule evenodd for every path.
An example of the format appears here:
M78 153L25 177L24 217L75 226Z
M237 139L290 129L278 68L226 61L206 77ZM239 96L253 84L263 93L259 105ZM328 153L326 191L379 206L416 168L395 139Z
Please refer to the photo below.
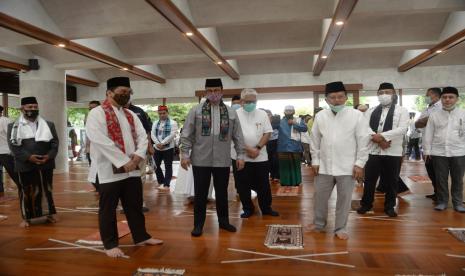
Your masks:
M113 107L113 110L121 127L126 153L123 153L108 136L107 122L103 108L98 106L92 109L89 112L86 123L86 132L91 143L90 158L92 159L92 165L88 178L90 182L95 183L97 175L100 184L116 182L129 177L140 177L141 175L139 170L129 173L113 173L112 165L116 168L121 168L131 160L130 156L132 154L145 159L148 144L147 132L135 113L128 110L134 118L137 135L136 145L132 137L131 126L123 109Z

